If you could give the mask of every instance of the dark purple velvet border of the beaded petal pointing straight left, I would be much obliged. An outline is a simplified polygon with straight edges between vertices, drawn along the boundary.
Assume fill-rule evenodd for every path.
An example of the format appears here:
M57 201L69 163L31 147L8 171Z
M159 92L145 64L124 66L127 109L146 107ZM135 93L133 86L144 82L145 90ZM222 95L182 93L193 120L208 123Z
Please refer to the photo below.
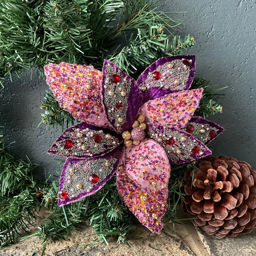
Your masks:
M103 127L98 127L98 126L94 126L94 125L92 125L92 124L88 124L88 123L86 123L86 122L78 123L78 124L76 124L76 125L70 127L69 129L65 130L63 133L65 133L65 132L72 132L72 129L73 129L73 128L75 128L75 129L79 128L79 129L81 129L81 130L86 129L86 128L89 128L90 130L93 130L93 131L100 131L100 130L102 130L103 132L109 133L110 135L112 135L112 136L118 138L119 144L117 144L115 147L113 147L113 148L111 148L111 149L107 149L107 150L101 152L100 154L94 154L92 157L102 156L102 155L104 155L104 154L106 154L106 153L108 153L108 152L113 151L113 150L114 150L115 148L117 148L117 147L122 143L122 141L123 141L122 136L120 136L120 134L117 134L117 133L115 133L115 132L113 132L113 131L111 131L111 130L105 129L105 128L103 128ZM54 150L51 150L51 148L53 148L53 146L54 146L57 142L59 142L59 141L61 141L61 140L69 139L69 137L63 136L63 133L58 137L58 139L57 139L57 140L52 144L52 146L49 148L49 150L48 150L48 154L49 154L49 155L55 155L55 156L58 156L58 157L68 157L68 156L65 156L65 155L58 154L58 153L57 153L56 151L54 151ZM88 156L84 155L84 156L79 156L79 157L71 156L71 157L69 157L69 158L78 158L78 159L83 158L83 159L89 159L89 158L92 158L92 157L88 157Z

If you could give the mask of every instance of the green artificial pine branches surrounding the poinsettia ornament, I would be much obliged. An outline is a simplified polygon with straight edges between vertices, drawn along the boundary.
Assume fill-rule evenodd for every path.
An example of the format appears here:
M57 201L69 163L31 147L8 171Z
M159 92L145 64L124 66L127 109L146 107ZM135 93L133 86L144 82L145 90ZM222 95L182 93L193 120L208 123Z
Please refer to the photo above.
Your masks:
M32 68L42 71L49 61L74 62L101 69L105 58L137 78L156 59L179 55L195 44L190 35L184 39L175 35L181 21L158 11L157 2L4 0L0 4L0 76L4 78L12 73L21 75ZM220 89L213 89L208 81L195 78L191 89L200 87L204 88L204 93L196 115L207 117L221 112L221 106L216 102ZM45 110L42 114L43 123L59 125L62 129L74 123L74 118L60 108L49 91L41 108ZM1 246L16 242L19 230L27 229L27 223L19 221L12 222L16 226L5 228L10 216L17 218L17 215L13 215L16 208L22 212L21 219L29 221L34 217L34 206L44 204L49 207L50 216L33 235L45 241L46 245L49 239L65 238L70 228L87 219L101 239L106 241L106 236L115 236L118 241L125 241L133 220L118 195L115 177L98 193L58 207L57 182L49 184L46 181L41 184L33 181L31 172L28 172L32 168L31 163L26 165L8 156L12 161L11 173L6 172L6 167L2 168L8 166L8 158L3 158L1 162L0 179L5 184L1 190L2 197L5 197L1 202ZM169 222L177 221L175 213L182 197L183 173L188 165L193 167L194 164L172 166L166 214ZM17 183L17 179L22 182ZM38 191L41 191L37 194L41 194L39 199L36 197ZM22 205L17 205L18 202ZM16 208L12 210L7 205Z

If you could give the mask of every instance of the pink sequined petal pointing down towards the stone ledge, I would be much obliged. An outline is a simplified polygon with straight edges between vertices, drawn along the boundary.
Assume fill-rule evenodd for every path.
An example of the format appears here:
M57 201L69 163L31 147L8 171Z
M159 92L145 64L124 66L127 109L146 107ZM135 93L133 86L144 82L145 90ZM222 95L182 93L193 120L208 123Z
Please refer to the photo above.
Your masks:
M166 212L170 166L153 140L127 148L117 170L117 189L124 204L152 232L160 233Z

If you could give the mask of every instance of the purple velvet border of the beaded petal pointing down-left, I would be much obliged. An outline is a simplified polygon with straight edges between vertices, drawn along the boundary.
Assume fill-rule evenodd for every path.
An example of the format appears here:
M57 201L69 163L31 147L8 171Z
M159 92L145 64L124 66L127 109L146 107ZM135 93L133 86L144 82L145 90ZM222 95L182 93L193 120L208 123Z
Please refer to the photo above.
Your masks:
M58 198L58 206L62 206L62 205L66 205L66 204L70 204L72 202L75 202L75 201L78 201L84 197L88 197L90 195L93 195L95 194L101 187L103 187L106 182L108 180L110 180L113 175L115 174L116 172L116 169L119 165L119 161L120 161L120 158L121 158L121 155L122 155L122 148L121 147L118 147L115 149L114 152L111 152L109 154L106 154L104 156L100 156L100 157L94 157L92 159L90 159L90 161L94 161L96 159L110 159L111 157L114 157L117 159L116 163L114 164L113 166L113 171L110 175L108 175L103 181L101 181L99 184L97 184L93 190L91 190L90 192L84 192L82 194L80 194L79 196L75 197L75 198L67 198L66 200L61 200L60 198ZM59 193L63 187L63 183L64 183L64 179L65 179L65 175L66 175L66 170L67 170L67 166L69 163L78 163L78 162L81 162L81 161L88 161L87 159L74 159L74 158L67 158L64 166L63 166L63 170L62 170L62 173L61 173L61 176L60 176L60 180L59 180Z

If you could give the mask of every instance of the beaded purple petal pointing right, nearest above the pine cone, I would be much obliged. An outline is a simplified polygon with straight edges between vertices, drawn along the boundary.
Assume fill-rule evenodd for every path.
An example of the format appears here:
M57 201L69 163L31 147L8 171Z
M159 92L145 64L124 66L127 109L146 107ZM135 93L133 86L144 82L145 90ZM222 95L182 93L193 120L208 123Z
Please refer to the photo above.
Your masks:
M211 154L200 140L175 128L148 125L147 137L156 140L164 148L170 164L191 162Z

